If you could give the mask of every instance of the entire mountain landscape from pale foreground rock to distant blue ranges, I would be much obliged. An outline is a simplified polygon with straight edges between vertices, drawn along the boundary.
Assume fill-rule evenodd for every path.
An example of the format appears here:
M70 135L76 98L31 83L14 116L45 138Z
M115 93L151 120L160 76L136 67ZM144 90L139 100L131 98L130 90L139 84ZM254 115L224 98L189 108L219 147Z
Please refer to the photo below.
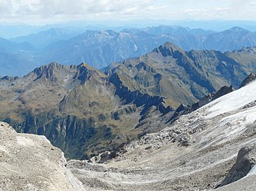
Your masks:
M255 32L81 28L0 38L0 191L254 190Z

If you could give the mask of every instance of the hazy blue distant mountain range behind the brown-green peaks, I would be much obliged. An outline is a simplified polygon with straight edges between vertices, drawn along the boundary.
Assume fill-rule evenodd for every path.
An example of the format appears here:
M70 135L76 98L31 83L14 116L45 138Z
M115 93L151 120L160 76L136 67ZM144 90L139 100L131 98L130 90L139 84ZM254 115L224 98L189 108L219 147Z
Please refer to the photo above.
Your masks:
M214 32L181 26L158 26L122 29L119 32L88 30L80 35L66 29L49 29L2 41L5 43L0 44L0 75L22 76L50 62L67 65L85 62L100 69L112 62L150 53L166 42L186 51L216 49L222 53L232 52L255 46L256 34L239 27ZM6 43L9 46L5 46Z

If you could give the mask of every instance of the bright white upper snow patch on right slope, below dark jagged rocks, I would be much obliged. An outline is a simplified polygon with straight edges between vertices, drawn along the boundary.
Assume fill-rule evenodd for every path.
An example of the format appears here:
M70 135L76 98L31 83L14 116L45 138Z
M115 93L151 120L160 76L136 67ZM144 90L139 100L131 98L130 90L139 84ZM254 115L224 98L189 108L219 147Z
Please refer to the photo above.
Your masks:
M206 118L214 118L219 114L237 110L254 100L256 100L256 80L206 104L204 107L209 107Z

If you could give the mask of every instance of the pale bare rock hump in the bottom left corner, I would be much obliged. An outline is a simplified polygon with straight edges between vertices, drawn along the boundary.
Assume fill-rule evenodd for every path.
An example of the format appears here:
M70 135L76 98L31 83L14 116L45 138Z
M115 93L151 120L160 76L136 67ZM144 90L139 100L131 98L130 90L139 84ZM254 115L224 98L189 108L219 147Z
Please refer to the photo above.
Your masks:
M83 190L59 148L0 122L0 191Z

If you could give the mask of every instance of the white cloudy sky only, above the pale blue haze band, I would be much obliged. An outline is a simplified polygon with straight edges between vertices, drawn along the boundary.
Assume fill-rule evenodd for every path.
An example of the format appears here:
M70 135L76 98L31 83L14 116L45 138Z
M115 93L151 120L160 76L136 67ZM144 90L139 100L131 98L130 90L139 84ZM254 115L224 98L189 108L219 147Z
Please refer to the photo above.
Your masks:
M256 0L0 0L0 22L255 20Z

